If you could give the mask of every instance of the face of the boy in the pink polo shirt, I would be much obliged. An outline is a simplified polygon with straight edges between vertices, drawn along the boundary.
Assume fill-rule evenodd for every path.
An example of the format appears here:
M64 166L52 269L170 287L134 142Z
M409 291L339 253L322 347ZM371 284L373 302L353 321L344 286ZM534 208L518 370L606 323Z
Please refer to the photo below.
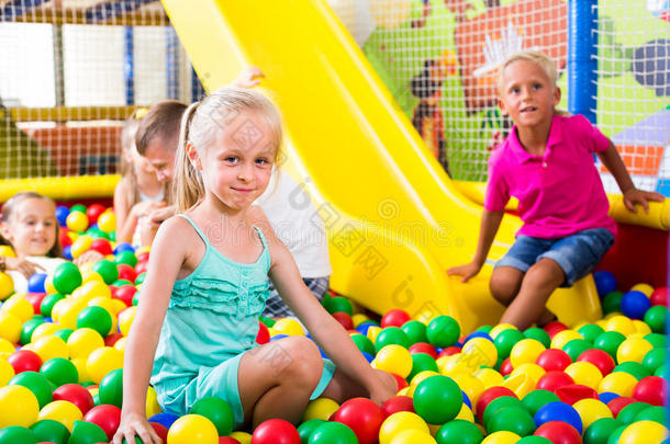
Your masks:
M547 73L529 60L516 60L503 72L499 105L517 126L534 127L554 116L560 89Z

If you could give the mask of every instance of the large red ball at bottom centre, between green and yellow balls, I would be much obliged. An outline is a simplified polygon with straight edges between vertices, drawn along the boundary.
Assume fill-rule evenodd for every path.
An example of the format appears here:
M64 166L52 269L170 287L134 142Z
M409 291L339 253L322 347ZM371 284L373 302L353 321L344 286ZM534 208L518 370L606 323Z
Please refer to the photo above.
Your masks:
M345 401L330 421L342 422L354 431L359 444L373 444L379 439L379 429L386 419L372 400L353 398Z

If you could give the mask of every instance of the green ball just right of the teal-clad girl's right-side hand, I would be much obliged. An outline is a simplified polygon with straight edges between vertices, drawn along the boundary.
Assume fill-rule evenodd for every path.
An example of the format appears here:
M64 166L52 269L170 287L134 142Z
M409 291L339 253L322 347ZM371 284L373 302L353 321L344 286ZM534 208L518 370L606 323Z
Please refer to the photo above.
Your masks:
M451 378L431 376L414 390L414 411L431 424L444 424L458 415L462 392Z

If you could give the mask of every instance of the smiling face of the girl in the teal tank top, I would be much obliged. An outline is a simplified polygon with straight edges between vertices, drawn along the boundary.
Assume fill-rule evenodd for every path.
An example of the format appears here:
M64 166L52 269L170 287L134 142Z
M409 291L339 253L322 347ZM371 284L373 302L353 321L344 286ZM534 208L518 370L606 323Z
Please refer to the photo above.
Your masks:
M245 113L217 132L212 146L200 153L189 149L191 161L202 172L208 195L228 208L250 206L270 180L277 153L271 136L263 118Z

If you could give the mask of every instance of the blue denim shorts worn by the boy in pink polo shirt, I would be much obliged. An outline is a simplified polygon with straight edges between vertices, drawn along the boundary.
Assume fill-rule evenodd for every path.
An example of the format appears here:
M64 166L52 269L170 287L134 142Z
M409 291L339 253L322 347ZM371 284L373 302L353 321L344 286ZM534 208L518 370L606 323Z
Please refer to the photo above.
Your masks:
M512 266L525 273L537 261L548 258L558 263L566 274L561 287L569 287L591 273L612 244L614 236L604 228L584 230L560 239L520 235L495 267Z

